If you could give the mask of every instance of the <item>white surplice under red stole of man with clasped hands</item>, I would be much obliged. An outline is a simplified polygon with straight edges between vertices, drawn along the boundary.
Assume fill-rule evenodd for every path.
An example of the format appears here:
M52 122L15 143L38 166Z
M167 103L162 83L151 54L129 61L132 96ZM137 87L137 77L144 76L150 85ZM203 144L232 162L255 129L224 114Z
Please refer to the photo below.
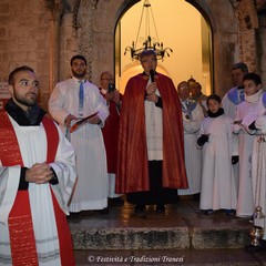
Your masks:
M25 167L47 161L47 135L43 125L20 126L11 117L21 156ZM60 266L59 237L51 196L52 187L58 203L69 214L68 203L75 182L75 156L72 145L59 130L59 146L55 160L50 163L59 184L29 183L30 208L33 222L39 265ZM4 167L0 162L0 265L12 265L8 217L20 182L20 165ZM4 262L4 263L3 263Z

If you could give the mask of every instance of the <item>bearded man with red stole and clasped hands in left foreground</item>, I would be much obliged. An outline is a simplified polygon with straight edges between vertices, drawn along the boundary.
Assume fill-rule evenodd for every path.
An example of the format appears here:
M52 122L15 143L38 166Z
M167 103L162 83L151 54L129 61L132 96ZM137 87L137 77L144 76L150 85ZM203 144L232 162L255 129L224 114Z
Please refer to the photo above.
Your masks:
M65 218L76 178L74 150L37 104L31 68L10 73L9 91L0 112L0 265L74 266Z

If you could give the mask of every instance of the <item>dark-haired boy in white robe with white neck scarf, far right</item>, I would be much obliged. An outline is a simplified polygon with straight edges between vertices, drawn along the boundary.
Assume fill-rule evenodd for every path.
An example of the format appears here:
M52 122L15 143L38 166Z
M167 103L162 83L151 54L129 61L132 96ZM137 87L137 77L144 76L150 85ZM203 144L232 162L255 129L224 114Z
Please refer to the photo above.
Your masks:
M256 129L250 125L264 112L259 108L263 94L262 79L256 73L247 73L243 78L245 101L237 105L234 121L234 133L239 142L239 188L237 198L237 217L250 217L254 213L252 185L252 153L256 137Z

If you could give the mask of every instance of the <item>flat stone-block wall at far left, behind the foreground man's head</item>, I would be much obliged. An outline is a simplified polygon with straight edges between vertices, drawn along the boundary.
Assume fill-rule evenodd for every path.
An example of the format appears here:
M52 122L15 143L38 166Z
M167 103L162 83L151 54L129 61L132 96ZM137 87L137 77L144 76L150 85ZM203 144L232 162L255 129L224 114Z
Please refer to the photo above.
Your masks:
M32 66L40 79L43 105L49 96L49 23L44 1L0 1L0 81L7 81L19 65Z

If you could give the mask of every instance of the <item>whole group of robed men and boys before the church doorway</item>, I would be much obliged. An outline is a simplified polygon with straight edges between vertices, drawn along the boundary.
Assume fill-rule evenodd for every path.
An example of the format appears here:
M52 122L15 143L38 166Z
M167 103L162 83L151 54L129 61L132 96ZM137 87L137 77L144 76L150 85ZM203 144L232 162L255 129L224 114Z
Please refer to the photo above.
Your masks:
M206 215L256 221L266 209L266 93L245 63L232 68L223 99L195 80L156 72L154 50L140 55L143 73L122 95L112 73L100 88L86 79L86 59L70 60L49 114L37 104L39 82L27 66L9 75L11 99L0 113L0 263L74 265L65 214L109 213L134 204L137 215L192 195ZM264 235L266 241L266 234ZM29 243L29 245L24 245Z

